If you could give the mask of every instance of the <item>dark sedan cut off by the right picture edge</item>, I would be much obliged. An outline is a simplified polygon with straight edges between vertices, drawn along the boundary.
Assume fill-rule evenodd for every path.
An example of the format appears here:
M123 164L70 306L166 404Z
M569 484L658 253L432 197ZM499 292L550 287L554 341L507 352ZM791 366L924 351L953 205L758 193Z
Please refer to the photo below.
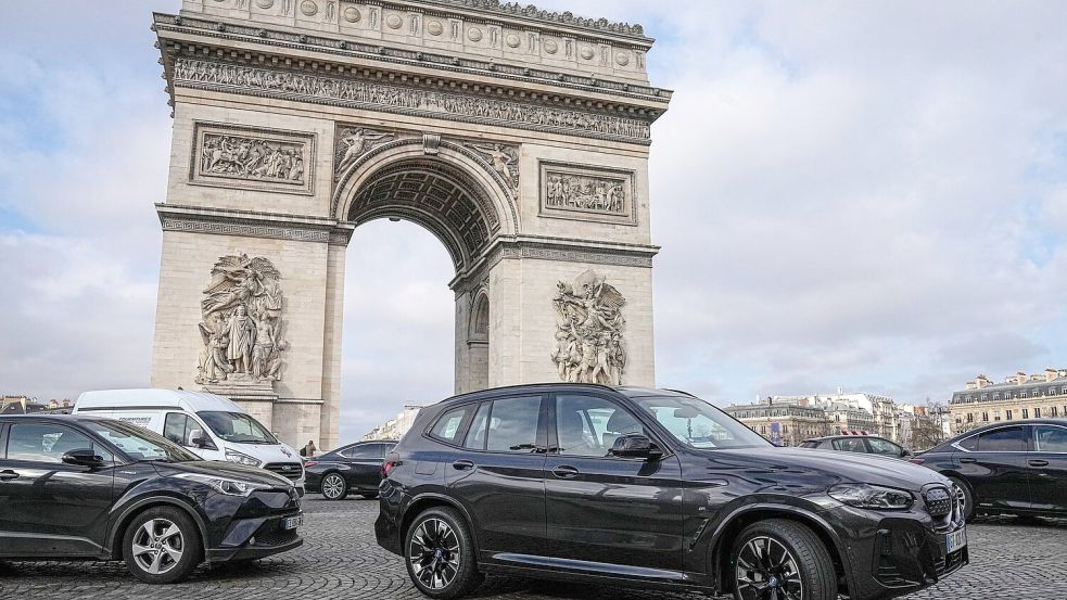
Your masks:
M912 459L952 480L968 518L1067 515L1067 419L992 423Z

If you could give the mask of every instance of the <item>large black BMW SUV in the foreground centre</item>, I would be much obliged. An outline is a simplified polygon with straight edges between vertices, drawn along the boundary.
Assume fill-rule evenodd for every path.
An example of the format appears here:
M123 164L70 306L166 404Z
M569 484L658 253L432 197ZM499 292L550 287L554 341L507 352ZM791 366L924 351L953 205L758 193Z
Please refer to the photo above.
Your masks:
M776 448L681 392L543 384L423 409L385 458L378 542L431 598L486 573L892 598L968 562L945 477Z

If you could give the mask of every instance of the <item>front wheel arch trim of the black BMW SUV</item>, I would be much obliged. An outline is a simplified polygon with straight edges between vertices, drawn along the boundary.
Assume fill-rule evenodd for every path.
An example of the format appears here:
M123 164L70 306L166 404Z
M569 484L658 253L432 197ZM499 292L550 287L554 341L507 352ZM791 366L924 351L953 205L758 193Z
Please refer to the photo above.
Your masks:
M829 551L838 579L844 582L846 589L841 591L848 593L850 589L855 589L852 572L846 566L850 564L848 551L841 542L840 536L825 519L801 507L754 505L741 507L732 512L720 523L712 536L709 553L713 571L710 575L720 592L728 593L734 588L733 578L729 577L731 549L734 546L734 540L745 527L771 519L792 521L811 529Z

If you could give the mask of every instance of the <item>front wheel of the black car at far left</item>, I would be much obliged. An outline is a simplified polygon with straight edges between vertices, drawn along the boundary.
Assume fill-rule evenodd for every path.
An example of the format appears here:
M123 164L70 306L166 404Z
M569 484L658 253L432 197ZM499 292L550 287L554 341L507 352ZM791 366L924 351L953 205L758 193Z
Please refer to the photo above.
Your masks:
M135 516L123 535L126 567L147 584L173 584L188 577L203 558L200 531L176 507L155 507Z

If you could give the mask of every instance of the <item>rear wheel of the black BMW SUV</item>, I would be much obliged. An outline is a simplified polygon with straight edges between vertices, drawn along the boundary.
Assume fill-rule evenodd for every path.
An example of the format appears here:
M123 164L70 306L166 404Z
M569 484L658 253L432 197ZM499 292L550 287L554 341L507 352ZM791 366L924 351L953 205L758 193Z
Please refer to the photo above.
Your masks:
M407 574L423 596L452 600L481 585L478 551L467 522L455 509L434 507L423 511L404 537Z

